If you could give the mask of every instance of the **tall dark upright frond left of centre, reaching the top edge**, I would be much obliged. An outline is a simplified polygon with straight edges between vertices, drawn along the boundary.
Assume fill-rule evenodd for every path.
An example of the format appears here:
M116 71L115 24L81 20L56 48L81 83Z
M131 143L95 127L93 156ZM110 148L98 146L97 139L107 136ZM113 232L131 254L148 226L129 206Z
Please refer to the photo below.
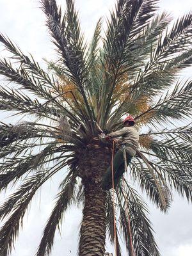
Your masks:
M83 36L79 30L77 12L74 9L74 1L67 0L67 12L61 20L61 11L56 1L42 0L42 9L47 15L47 26L54 38L54 43L63 57L63 64L67 76L76 84L81 93L84 106L88 111L90 131L94 131L94 114L88 104L85 86L88 79L83 54Z

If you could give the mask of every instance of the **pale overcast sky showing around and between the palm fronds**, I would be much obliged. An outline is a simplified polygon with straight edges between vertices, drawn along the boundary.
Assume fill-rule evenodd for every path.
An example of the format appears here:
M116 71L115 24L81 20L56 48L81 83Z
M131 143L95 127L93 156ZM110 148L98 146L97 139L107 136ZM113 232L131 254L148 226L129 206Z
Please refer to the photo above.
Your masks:
M45 17L38 8L38 2L37 0L0 0L0 31L6 33L16 42L22 51L30 52L37 61L42 63L42 58L54 57L54 47L49 40L49 34L44 25ZM58 1L58 3L61 2L65 1ZM107 15L114 3L115 0L76 1L87 38L92 36L93 28L99 17ZM173 17L178 17L191 9L191 0L160 0L159 6L161 10L171 12ZM4 56L4 52L0 54ZM2 120L4 115L1 115L0 118ZM41 193L35 196L12 256L34 255L42 228L51 211L52 200L57 193L61 175L62 173L58 173L54 180L45 184ZM175 196L169 214L162 214L152 205L150 205L150 209L150 219L154 224L154 230L156 230L156 240L162 256L191 255L191 204L179 196ZM81 209L72 207L65 216L62 239L59 234L56 235L52 256L76 255L80 223ZM112 250L113 247L108 246L107 251L112 252Z

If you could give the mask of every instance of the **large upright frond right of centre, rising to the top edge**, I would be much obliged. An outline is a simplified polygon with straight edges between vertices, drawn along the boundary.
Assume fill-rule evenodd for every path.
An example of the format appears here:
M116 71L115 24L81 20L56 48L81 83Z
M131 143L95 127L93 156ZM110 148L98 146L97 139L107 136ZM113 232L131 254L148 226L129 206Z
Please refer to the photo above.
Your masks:
M104 42L104 67L106 69L105 88L102 90L106 111L102 113L103 120L108 119L108 115L113 108L111 97L115 89L116 81L129 72L131 65L126 65L127 56L130 56L130 39L147 26L148 20L154 14L156 1L118 1L115 12L111 13L111 22L108 22L106 42ZM148 12L146 12L148 10ZM134 58L134 57L133 57ZM132 59L132 57L131 57ZM129 63L128 63L129 64ZM106 123L102 124L102 127Z

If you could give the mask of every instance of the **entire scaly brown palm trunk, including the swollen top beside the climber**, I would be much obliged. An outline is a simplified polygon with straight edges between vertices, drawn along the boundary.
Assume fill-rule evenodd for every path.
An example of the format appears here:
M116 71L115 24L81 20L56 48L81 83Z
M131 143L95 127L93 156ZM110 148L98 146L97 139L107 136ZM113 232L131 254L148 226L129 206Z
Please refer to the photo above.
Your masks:
M111 149L90 145L81 153L79 169L84 185L83 221L79 255L104 256L106 241L106 191L101 187L102 175L110 164Z

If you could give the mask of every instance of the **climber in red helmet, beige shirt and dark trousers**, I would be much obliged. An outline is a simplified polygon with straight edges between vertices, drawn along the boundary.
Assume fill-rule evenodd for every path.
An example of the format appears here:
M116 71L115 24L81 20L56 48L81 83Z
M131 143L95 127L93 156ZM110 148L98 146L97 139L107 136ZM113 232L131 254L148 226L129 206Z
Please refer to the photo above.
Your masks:
M113 170L114 170L114 183L115 186L118 184L125 168L131 162L132 157L136 154L138 148L139 134L136 131L135 120L131 115L127 116L124 120L124 128L116 132L107 134L106 138L119 138L116 140L120 144L120 149L116 152L113 159ZM112 188L112 171L111 166L108 167L106 174L102 180L102 187L106 190Z

